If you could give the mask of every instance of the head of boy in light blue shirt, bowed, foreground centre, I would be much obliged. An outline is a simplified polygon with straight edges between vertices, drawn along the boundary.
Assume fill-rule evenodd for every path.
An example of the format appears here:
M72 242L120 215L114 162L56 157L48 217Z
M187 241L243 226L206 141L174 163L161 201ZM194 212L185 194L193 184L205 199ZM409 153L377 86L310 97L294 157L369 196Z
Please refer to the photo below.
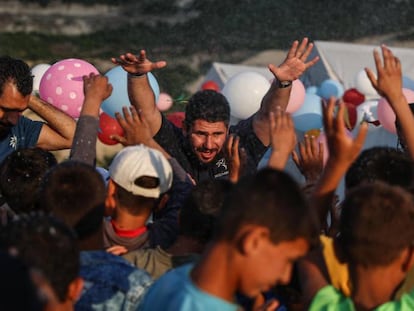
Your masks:
M295 181L266 168L233 188L220 215L216 240L235 248L242 266L239 290L254 297L289 282L295 260L317 243L318 228L316 214Z

